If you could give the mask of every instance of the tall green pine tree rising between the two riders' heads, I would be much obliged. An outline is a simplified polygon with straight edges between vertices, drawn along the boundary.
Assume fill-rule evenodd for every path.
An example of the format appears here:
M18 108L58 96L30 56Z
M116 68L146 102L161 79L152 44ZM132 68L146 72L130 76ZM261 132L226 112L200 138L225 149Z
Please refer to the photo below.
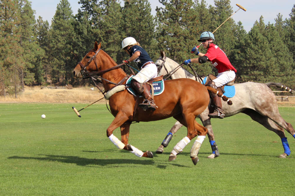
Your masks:
M191 33L195 26L196 13L192 9L191 0L159 0L165 8L158 8L156 24L158 48L164 50L166 56L176 62L191 58L191 48L195 39ZM190 24L190 26L189 26ZM193 46L192 46L193 44Z

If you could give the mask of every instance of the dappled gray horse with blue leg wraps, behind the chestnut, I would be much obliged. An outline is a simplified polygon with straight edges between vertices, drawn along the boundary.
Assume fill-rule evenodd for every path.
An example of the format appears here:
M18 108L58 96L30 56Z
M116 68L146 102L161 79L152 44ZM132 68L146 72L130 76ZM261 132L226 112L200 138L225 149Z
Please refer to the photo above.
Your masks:
M179 66L178 63L165 56L165 53L161 51L161 57L155 62L158 67L158 75L171 75L172 79L176 78L191 78L201 82L201 79L196 78L186 69ZM164 76L165 78L165 76ZM203 78L202 78L203 79ZM290 88L281 85L280 83L255 83L245 82L236 83L235 91L236 94L231 98L232 105L228 105L225 101L222 101L222 109L224 110L225 116L229 117L237 113L245 113L249 115L253 120L260 123L267 129L275 132L282 141L284 153L279 155L280 158L286 158L290 155L291 150L287 138L284 133L286 129L295 138L294 128L290 123L287 123L280 115L277 106L276 96L269 87L280 87L293 93ZM214 133L212 130L211 120L208 116L209 109L207 108L203 113L199 115L203 125L208 129L208 138L212 148L212 154L207 158L215 158L219 156L219 151L214 140ZM172 135L176 133L183 125L178 121L173 125L170 132L163 140L163 143L159 146L156 153L163 153L163 147L166 147L170 142Z

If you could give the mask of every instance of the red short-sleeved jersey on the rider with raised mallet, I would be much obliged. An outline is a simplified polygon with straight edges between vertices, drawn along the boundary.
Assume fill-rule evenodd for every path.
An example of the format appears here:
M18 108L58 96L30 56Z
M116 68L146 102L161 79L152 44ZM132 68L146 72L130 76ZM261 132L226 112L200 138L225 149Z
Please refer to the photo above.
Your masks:
M222 51L222 49L220 49L215 44L213 43L210 44L205 56L207 56L211 64L217 68L218 73L222 73L229 69L237 72L234 66L232 66L232 64L230 63L230 60L228 60L224 51Z

